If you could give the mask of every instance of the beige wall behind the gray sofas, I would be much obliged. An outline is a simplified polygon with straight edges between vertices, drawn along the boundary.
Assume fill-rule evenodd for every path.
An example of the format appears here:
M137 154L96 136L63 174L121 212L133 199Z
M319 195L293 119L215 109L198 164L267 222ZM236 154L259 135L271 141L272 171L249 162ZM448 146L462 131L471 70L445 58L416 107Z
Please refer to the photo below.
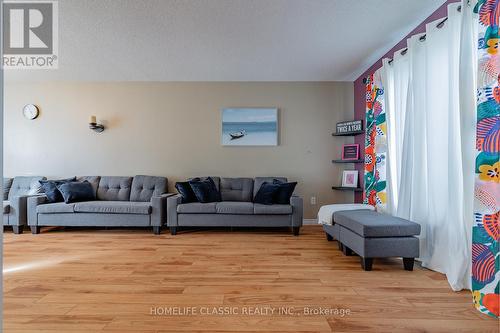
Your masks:
M38 119L23 117L28 103L40 106ZM280 145L221 146L220 110L236 106L278 107ZM196 175L286 176L299 182L305 218L314 218L322 204L353 200L331 190L341 177L331 160L349 140L331 133L353 110L353 84L341 82L7 82L4 172L163 175L170 190ZM90 115L105 132L88 128Z

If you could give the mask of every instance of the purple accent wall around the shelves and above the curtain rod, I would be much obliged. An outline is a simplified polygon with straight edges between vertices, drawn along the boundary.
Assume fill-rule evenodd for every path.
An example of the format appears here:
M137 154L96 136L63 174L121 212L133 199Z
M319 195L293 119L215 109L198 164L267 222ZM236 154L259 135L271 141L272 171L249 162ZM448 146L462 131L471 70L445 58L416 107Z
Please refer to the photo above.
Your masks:
M459 2L460 0L447 0L441 7L439 7L434 13L432 13L428 18L426 18L418 27L413 29L412 32L410 32L406 37L404 37L398 44L396 44L389 52L387 52L382 58L380 58L377 62L375 62L366 72L364 72L360 77L354 81L354 119L363 119L363 122L365 122L365 113L366 113L366 104L365 104L365 84L363 83L363 79L370 74L374 73L377 69L382 67L382 59L384 58L392 58L394 52L404 49L406 47L406 40L415 35L419 34L422 32L425 32L425 25L429 22L432 22L434 20L438 20L440 18L444 18L448 15L447 13L447 7L450 3L453 2ZM361 158L364 158L364 136L363 135L358 135L355 137L355 142L358 143L361 147ZM360 174L360 184L361 187L363 188L364 185L364 166L363 164L358 164L356 165L356 169L359 171ZM362 202L363 201L363 194L362 193L356 193L355 194L355 202Z

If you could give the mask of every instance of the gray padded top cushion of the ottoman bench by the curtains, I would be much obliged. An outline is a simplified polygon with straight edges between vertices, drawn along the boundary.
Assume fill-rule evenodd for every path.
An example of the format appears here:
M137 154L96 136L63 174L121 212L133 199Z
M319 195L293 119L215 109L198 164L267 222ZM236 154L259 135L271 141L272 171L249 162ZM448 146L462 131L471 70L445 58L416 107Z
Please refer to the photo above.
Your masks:
M362 237L404 237L420 234L420 224L366 209L335 212L333 221Z

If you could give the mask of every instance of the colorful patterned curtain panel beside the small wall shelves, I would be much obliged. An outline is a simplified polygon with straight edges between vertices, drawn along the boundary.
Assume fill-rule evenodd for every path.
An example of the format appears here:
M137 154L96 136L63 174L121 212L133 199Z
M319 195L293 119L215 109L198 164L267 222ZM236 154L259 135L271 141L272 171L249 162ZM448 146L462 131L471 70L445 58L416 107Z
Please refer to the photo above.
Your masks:
M379 72L366 78L365 188L363 202L385 211L387 124Z

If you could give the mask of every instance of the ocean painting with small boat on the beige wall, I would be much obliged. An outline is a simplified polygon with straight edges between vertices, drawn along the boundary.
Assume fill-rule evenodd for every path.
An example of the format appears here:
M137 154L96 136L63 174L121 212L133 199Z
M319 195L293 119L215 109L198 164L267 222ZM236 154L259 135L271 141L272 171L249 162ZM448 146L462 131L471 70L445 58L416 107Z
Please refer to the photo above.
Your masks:
M278 109L223 109L221 142L224 146L277 146Z

